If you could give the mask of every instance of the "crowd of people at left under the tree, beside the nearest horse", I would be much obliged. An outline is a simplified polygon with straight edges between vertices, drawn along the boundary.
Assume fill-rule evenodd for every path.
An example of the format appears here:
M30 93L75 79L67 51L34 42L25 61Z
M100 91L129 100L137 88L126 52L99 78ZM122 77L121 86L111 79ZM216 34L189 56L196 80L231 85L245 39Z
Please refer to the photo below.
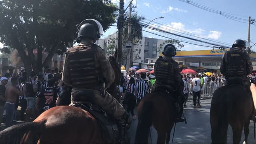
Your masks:
M12 125L13 120L30 122L56 104L60 104L61 92L67 89L61 80L62 74L58 68L36 74L27 74L24 67L13 74L6 73L0 78L0 124L2 128ZM58 98L60 97L60 98ZM16 115L18 106L20 115ZM26 112L26 115L25 115Z

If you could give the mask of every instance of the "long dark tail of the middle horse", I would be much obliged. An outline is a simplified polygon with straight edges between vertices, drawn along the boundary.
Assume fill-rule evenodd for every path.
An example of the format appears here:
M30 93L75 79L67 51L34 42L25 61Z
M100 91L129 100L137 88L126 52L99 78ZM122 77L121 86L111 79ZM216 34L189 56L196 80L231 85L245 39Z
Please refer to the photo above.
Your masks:
M148 143L148 134L152 125L152 102L145 101L142 104L140 116L138 116L138 126L135 136L135 143Z

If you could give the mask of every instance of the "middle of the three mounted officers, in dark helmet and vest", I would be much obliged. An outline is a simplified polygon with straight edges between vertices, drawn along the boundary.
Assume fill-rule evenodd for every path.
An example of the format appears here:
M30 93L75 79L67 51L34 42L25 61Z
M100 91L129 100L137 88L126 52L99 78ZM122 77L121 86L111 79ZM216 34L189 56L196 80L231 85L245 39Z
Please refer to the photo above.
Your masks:
M175 109L174 122L184 122L185 119L181 118L183 110L182 93L180 88L182 86L182 77L180 74L179 64L172 59L176 55L176 48L172 44L166 44L162 52L164 57L160 56L154 65L154 74L156 82L152 91L163 90L168 92L170 96L175 99L172 104Z

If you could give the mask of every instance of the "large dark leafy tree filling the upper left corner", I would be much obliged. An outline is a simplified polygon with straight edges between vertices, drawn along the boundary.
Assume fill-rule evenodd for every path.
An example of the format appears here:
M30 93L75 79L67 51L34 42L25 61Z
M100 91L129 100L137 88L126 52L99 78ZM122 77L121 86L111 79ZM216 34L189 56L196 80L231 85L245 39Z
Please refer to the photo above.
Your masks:
M77 26L94 18L104 30L115 22L117 6L110 0L1 0L2 51L16 49L26 71L47 66L54 54L73 46ZM42 62L42 52L48 52Z

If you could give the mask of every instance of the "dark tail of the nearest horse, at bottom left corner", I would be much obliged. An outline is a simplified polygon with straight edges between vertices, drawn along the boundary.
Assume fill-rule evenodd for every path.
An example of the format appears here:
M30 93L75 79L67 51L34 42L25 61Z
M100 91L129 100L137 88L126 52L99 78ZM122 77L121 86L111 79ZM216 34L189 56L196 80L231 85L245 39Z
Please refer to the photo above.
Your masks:
M24 122L10 126L0 132L0 143L37 143L46 120L42 122Z

